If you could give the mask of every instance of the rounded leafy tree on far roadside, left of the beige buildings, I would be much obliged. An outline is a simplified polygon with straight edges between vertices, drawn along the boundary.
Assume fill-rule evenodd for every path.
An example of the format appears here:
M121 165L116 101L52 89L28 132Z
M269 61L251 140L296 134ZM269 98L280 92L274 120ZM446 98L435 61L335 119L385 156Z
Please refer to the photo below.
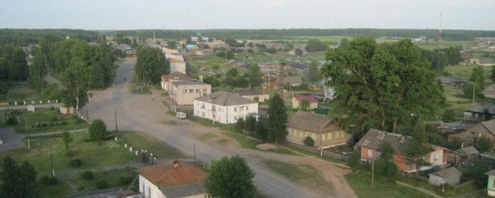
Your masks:
M159 83L161 75L170 72L170 64L160 49L141 47L136 62L136 75L148 83Z

